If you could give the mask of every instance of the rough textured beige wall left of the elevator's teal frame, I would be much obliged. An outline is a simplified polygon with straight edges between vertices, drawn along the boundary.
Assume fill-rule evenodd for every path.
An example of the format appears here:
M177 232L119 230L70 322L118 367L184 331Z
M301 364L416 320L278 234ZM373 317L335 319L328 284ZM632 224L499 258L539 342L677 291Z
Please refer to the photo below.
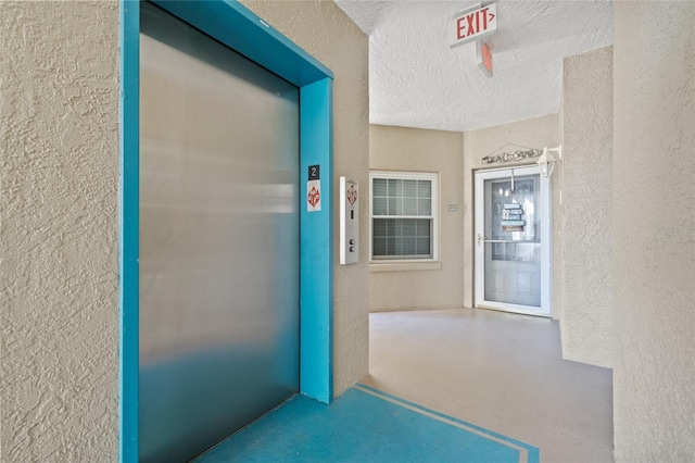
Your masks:
M2 461L115 461L118 4L0 18Z

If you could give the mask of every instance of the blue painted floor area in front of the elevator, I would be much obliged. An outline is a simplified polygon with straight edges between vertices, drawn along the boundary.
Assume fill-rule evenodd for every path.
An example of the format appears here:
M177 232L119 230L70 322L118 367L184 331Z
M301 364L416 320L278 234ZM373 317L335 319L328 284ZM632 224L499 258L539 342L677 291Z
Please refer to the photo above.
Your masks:
M295 396L198 463L538 463L539 449L357 385L326 405Z

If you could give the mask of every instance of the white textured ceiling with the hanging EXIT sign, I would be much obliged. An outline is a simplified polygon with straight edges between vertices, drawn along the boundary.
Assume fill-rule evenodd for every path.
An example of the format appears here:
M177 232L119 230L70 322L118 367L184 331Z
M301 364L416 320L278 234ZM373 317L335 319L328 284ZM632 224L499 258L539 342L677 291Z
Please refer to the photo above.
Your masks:
M609 0L498 1L489 78L446 32L480 1L334 1L369 36L372 124L463 132L556 113L563 58L612 43Z

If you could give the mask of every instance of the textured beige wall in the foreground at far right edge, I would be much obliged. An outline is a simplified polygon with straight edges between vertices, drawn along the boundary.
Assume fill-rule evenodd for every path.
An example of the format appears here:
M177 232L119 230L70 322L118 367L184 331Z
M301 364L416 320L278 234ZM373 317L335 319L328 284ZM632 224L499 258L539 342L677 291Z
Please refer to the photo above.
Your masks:
M693 462L695 3L614 9L616 461Z

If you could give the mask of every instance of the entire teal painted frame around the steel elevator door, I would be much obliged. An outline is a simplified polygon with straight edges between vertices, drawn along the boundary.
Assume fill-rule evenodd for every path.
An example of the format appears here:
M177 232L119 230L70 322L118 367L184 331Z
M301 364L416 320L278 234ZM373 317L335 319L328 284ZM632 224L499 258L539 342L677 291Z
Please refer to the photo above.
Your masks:
M332 79L330 70L238 1L153 3L300 88L300 198L320 165L321 210L300 204L300 392L332 390ZM121 1L121 445L138 461L140 2Z

